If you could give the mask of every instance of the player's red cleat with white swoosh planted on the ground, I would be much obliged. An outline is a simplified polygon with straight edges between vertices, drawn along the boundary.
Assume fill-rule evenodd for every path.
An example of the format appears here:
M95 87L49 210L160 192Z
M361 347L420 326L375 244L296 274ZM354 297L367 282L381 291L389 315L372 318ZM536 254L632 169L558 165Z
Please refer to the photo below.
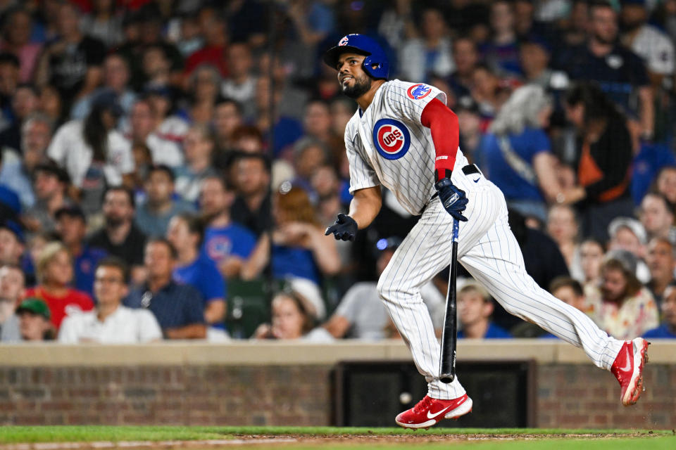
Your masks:
M471 411L472 399L467 394L452 400L433 399L425 395L418 404L399 413L394 420L403 428L430 428L443 418L457 419Z

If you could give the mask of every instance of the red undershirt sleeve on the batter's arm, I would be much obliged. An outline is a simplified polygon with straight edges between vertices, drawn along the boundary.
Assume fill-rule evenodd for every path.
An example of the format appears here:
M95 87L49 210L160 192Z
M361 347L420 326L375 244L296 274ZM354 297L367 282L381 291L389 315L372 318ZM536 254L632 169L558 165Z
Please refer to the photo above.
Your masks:
M450 178L453 166L456 164L456 154L460 142L460 127L458 116L437 98L427 103L420 123L432 131L434 142L434 179L439 181L444 177Z

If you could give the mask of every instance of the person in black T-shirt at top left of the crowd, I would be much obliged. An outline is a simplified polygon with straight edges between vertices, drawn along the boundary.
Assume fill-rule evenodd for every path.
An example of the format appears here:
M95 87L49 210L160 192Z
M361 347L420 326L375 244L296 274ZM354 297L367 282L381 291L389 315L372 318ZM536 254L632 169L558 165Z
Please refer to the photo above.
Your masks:
M45 47L35 80L40 85L55 86L61 98L70 104L75 98L92 92L101 82L106 47L99 39L82 34L80 11L76 6L63 3L57 14L59 37Z

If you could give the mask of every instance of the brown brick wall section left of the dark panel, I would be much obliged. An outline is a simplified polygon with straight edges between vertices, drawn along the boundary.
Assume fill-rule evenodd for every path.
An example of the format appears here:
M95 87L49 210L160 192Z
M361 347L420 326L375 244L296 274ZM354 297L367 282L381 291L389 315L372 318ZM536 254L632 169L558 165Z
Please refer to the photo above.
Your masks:
M0 425L326 425L328 366L0 367Z

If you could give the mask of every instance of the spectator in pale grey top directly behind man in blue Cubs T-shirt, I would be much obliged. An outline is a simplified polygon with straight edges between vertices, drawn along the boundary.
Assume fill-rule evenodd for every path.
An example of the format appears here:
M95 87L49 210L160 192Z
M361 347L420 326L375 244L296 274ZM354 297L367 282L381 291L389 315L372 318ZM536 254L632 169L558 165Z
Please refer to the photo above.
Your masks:
M185 164L176 169L176 192L189 202L199 197L199 190L209 176L217 176L213 167L213 134L204 124L193 125L183 141Z

